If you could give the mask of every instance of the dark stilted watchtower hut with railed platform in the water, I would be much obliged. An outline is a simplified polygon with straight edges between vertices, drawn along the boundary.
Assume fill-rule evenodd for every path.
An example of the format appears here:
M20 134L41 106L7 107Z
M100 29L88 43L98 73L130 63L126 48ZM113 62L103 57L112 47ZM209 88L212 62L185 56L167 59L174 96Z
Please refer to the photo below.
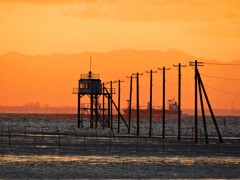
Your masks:
M120 92L119 92L120 93ZM115 109L120 117L124 121L126 127L128 128L128 124L125 122L119 108L116 106L115 102L112 99L113 94L115 94L115 89L111 88L110 91L105 87L104 83L101 83L99 75L93 74L89 71L88 74L82 74L81 78L78 81L78 88L73 89L73 94L78 94L78 128L82 125L83 114L86 111L90 111L90 127L93 128L95 124L95 128L98 127L98 123L104 128L107 125L108 128L113 130L113 115L112 115L112 105L114 105ZM81 98L83 96L90 97L90 107L81 106ZM100 97L102 97L102 102L100 103ZM107 98L107 106L105 105L105 98ZM119 101L120 104L120 101ZM106 113L107 111L107 113ZM107 114L107 119L105 115ZM120 122L119 122L120 123Z

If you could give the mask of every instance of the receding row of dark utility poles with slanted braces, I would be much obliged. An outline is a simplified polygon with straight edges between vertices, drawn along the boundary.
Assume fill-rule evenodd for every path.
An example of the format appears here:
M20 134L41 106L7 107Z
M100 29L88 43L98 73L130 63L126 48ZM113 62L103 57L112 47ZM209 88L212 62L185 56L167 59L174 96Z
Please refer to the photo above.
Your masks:
M181 140L181 68L182 67L186 67L186 65L181 65L181 63L179 63L178 65L173 65L174 67L177 67L178 68L178 130L177 130L177 139L178 140ZM199 94L200 94L200 100L201 100L201 107L202 107L202 116L203 116L203 124L204 124L204 130L205 130L205 137L206 137L206 143L208 143L208 137L207 137L207 130L206 130L206 122L205 122L205 113L204 113L204 108L203 108L203 102L202 102L202 90L204 92L204 95L205 95L205 98L207 100L207 103L208 103L208 107L210 109L210 112L211 112L211 115L212 115L212 118L213 118L213 121L214 121L214 124L215 124L215 128L217 130L217 133L218 133L218 136L219 136L219 140L220 142L223 142L222 141L222 138L221 138L221 134L219 132L219 129L218 129L218 126L216 124L216 120L215 120L215 117L214 117L214 114L212 112L212 109L211 109L211 105L210 105L210 102L208 100L208 97L207 97L207 94L206 94L206 91L204 89L204 86L203 86L203 83L201 81L201 77L200 77L200 74L198 72L198 66L202 66L201 62L198 62L197 60L193 63L193 62L190 62L190 66L195 66L195 143L197 143L197 140L198 140L198 135L197 135L197 131L198 131L198 107L197 107L197 104L198 104L198 90L197 90L197 87L199 87ZM161 70L163 72L163 80L162 80L162 83L163 83L163 89L162 89L162 138L165 138L165 96L166 96L166 93L165 93L165 82L166 82L166 70L170 70L170 68L158 68L158 70ZM156 73L157 71L153 71L153 70L150 70L150 71L146 71L146 73L149 73L150 74L150 112L149 112L149 137L152 136L152 81L153 81L153 73ZM113 99L112 99L112 95L113 95L113 89L112 89L112 84L115 83L115 82L118 82L118 106L114 103L115 105L115 108L117 109L118 111L118 125L117 125L117 128L118 128L118 132L120 131L120 118L123 119L125 125L127 126L128 128L128 133L130 133L130 128L131 128L131 110L132 110L132 80L133 78L136 78L136 123L137 123L137 132L136 134L139 135L140 134L140 114L139 114L139 76L140 75L143 75L142 73L133 73L130 77L130 97L129 97L129 116L128 116L128 123L125 122L124 118L122 117L121 115L121 112L120 112L120 109L121 109L121 104L120 104L120 99L121 99L121 80L119 81L110 81L110 93L107 92L105 94L105 91L107 91L107 89L104 87L104 83L103 83L103 123L104 123L104 111L105 111L105 107L104 107L104 96L105 95L108 95L108 127L111 128L111 130L113 130L113 117L112 117L112 105L113 105ZM92 99L92 98L91 98ZM93 111L93 105L92 105L92 100L91 100L91 111ZM96 111L97 111L97 95L96 95ZM96 127L97 127L97 113L96 112ZM91 116L93 115L93 113L91 113ZM120 117L121 116L121 117ZM93 119L93 117L91 117L91 119ZM109 122L110 120L110 122ZM103 127L104 127L104 124L103 124Z

